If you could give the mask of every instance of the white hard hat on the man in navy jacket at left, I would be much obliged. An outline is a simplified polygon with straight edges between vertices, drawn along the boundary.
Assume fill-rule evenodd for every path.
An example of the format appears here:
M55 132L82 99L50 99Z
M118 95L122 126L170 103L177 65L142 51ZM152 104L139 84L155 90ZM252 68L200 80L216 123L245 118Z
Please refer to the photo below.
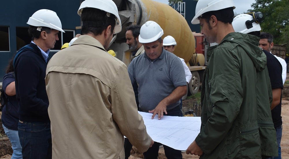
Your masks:
M36 11L28 20L27 24L35 27L49 27L64 32L59 17L55 12L48 9ZM64 32L65 33L65 32Z

